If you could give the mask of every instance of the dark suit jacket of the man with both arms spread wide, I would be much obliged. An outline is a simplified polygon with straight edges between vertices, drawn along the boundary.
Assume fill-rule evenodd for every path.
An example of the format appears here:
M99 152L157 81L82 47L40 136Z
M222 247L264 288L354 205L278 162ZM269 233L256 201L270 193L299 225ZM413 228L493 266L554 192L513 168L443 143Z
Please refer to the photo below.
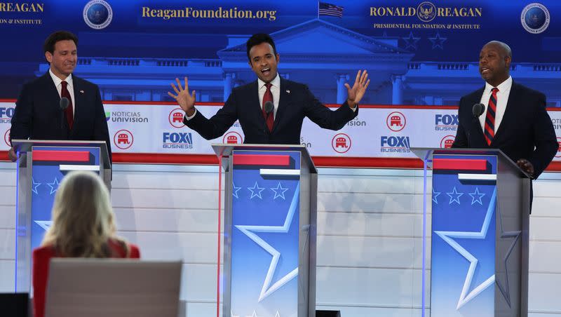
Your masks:
M358 109L353 112L346 102L332 111L319 102L306 85L280 79L278 110L273 130L269 133L257 90L257 81L234 88L224 107L212 118L206 119L197 111L191 120L186 118L183 122L206 140L223 135L239 120L245 135L244 143L300 144L304 117L322 128L339 130L358 114Z

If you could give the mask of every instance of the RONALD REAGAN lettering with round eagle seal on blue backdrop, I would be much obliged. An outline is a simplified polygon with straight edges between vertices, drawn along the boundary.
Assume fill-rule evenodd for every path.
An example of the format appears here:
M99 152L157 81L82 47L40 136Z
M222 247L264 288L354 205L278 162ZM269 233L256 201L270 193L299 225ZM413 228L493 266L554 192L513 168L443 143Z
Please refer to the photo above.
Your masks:
M414 17L422 22L431 22L434 18L480 18L481 7L438 7L429 1L414 6L371 6L371 17Z

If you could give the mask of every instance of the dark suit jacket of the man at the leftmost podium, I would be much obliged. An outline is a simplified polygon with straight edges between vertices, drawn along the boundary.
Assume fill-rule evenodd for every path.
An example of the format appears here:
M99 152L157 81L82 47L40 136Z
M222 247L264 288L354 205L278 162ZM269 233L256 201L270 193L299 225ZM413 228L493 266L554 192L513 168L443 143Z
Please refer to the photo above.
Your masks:
M50 74L25 83L15 102L11 140L105 141L111 158L107 120L97 85L72 75L74 126L68 130L60 110L60 95Z

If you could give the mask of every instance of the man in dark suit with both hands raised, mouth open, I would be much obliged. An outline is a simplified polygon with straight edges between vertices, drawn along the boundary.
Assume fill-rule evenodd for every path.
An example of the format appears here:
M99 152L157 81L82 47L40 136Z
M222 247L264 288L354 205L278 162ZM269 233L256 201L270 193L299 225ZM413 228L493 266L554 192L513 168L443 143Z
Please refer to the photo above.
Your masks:
M175 94L168 94L184 110L183 122L205 139L223 135L239 120L245 143L299 144L302 121L306 116L318 126L331 130L339 130L357 116L358 102L370 83L366 71L358 71L352 87L345 83L347 100L332 111L319 102L306 85L280 78L277 72L279 55L271 36L254 34L246 46L249 65L257 75L257 81L234 88L224 107L212 118L207 119L196 111L195 91L189 94L187 77L184 88L179 79L175 79L177 87L171 84ZM269 107L267 102L271 102Z

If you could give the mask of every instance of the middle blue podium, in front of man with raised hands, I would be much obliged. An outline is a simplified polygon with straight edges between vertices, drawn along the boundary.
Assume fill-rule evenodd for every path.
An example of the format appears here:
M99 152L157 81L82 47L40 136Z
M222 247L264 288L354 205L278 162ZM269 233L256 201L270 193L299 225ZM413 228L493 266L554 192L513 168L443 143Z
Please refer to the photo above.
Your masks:
M306 147L212 148L226 175L222 316L315 316L318 177Z

